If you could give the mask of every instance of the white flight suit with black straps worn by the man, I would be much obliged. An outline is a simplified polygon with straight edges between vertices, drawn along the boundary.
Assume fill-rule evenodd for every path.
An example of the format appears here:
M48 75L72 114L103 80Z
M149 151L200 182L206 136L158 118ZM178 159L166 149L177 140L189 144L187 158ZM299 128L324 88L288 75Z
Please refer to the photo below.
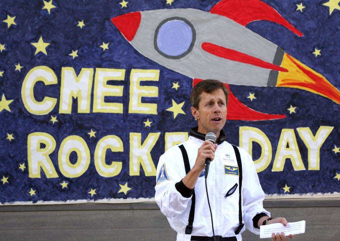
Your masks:
M183 145L188 153L190 168L195 164L197 152L204 140L189 136ZM238 148L242 161L242 212L245 227L255 234L260 229L254 228L253 217L258 213L270 213L263 208L262 202L265 194L261 188L255 166L251 156L243 149ZM216 236L233 237L242 240L241 235L235 235L238 228L238 200L239 191L226 197L226 193L238 183L238 163L235 151L231 144L224 141L216 152L215 158L210 163L207 177L207 189L212 211L214 231ZM179 193L175 184L186 176L183 156L174 146L166 151L157 165L155 199L162 213L167 216L170 226L177 232L177 241L189 241L193 236L212 237L210 212L205 192L204 173L201 174L195 185L196 205L195 219L191 235L185 234L188 224L191 197L185 198ZM240 232L240 233L241 233Z

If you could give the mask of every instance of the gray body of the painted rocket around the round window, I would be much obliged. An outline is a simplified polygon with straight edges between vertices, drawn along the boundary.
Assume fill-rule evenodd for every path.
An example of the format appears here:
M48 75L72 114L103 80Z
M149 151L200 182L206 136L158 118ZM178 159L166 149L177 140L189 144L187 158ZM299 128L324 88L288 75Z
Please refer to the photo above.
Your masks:
M275 85L278 73L275 70L217 57L202 49L202 44L207 42L269 63L280 64L283 50L233 20L189 8L149 10L140 13L141 22L131 44L145 57L192 78L217 79L245 86ZM190 47L182 55L169 56L162 53L158 47L160 30L171 21L183 22L192 31Z

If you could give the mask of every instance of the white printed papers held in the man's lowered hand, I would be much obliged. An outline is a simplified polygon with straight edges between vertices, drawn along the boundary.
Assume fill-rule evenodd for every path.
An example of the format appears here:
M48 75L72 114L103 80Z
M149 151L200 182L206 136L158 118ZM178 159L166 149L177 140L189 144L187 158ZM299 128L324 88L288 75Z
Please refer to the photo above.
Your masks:
M273 223L269 225L260 226L260 238L271 238L272 233L284 232L285 236L290 234L304 234L306 229L306 221L287 223L287 226L283 226L282 223Z

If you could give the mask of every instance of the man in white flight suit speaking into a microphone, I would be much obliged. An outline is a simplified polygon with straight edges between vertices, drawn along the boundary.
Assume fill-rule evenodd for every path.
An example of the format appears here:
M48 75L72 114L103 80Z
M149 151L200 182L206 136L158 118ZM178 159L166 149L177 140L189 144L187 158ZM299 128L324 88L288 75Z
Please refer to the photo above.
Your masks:
M155 199L177 232L177 241L239 241L245 228L259 234L261 225L287 224L285 218L271 218L263 208L265 195L251 156L226 141L222 128L228 93L220 81L198 83L191 92L191 113L198 127L190 130L183 145L160 157ZM205 141L208 132L216 134L216 144ZM211 163L204 178L207 158ZM272 240L287 238L272 234Z

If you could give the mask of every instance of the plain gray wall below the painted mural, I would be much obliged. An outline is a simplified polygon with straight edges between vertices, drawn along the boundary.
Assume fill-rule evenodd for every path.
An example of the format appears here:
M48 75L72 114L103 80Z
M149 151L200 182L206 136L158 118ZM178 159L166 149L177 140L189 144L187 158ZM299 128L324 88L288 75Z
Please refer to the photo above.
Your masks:
M265 200L264 206L272 216L306 220L306 233L296 235L296 241L340 237L340 199ZM0 241L174 241L175 237L154 202L0 206ZM260 241L248 231L242 237Z

